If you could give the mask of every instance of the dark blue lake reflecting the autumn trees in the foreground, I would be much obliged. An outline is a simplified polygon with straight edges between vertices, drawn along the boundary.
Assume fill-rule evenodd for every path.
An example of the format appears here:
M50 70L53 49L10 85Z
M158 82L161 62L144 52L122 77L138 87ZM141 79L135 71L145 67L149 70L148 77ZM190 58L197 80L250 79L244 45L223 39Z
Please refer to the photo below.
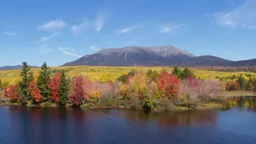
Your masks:
M256 143L254 108L228 111L0 107L0 143Z

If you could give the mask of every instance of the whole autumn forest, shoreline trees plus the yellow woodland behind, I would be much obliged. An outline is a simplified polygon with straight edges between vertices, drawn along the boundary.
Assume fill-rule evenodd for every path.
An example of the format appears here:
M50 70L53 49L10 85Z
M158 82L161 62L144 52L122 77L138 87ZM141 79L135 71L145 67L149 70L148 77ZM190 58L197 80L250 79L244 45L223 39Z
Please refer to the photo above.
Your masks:
M2 103L161 111L229 107L228 98L219 96L223 91L256 90L255 74L250 72L213 75L212 71L204 71L204 76L201 71L190 68L147 68L146 71L143 68L127 68L129 71L121 72L115 79L108 80L112 77L108 73L105 81L97 81L91 78L97 75L97 68L90 69L90 75L86 76L79 72L70 74L69 71L75 68L53 69L43 63L35 71L29 68L28 63L22 64L19 76L13 76L13 81L10 78L8 81L0 79ZM111 72L110 68L105 69Z

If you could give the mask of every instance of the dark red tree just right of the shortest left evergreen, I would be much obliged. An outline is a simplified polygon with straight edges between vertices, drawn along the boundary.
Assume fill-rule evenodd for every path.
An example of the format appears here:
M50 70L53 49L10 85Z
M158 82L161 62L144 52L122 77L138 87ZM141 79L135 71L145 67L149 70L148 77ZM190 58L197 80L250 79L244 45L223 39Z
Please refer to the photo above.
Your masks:
M74 106L79 106L82 104L83 98L85 96L85 90L83 88L84 85L85 81L83 76L73 77L69 100Z

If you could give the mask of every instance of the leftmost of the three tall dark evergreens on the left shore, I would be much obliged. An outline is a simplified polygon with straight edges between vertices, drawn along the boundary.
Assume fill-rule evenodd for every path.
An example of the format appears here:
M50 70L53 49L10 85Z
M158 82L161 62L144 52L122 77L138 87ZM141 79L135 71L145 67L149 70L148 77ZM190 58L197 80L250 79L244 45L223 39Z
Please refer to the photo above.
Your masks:
M31 72L28 63L23 62L22 65L23 66L20 71L21 81L19 82L18 86L18 94L19 102L21 104L26 104L27 98L29 98L29 84L31 82L31 76L29 76L29 74L31 74Z

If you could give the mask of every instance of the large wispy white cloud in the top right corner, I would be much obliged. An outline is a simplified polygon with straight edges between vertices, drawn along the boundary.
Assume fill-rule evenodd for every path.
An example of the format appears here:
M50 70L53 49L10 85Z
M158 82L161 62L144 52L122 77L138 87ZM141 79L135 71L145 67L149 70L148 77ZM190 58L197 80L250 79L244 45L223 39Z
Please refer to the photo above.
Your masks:
M256 28L256 1L247 0L233 11L215 14L217 24L229 28Z

